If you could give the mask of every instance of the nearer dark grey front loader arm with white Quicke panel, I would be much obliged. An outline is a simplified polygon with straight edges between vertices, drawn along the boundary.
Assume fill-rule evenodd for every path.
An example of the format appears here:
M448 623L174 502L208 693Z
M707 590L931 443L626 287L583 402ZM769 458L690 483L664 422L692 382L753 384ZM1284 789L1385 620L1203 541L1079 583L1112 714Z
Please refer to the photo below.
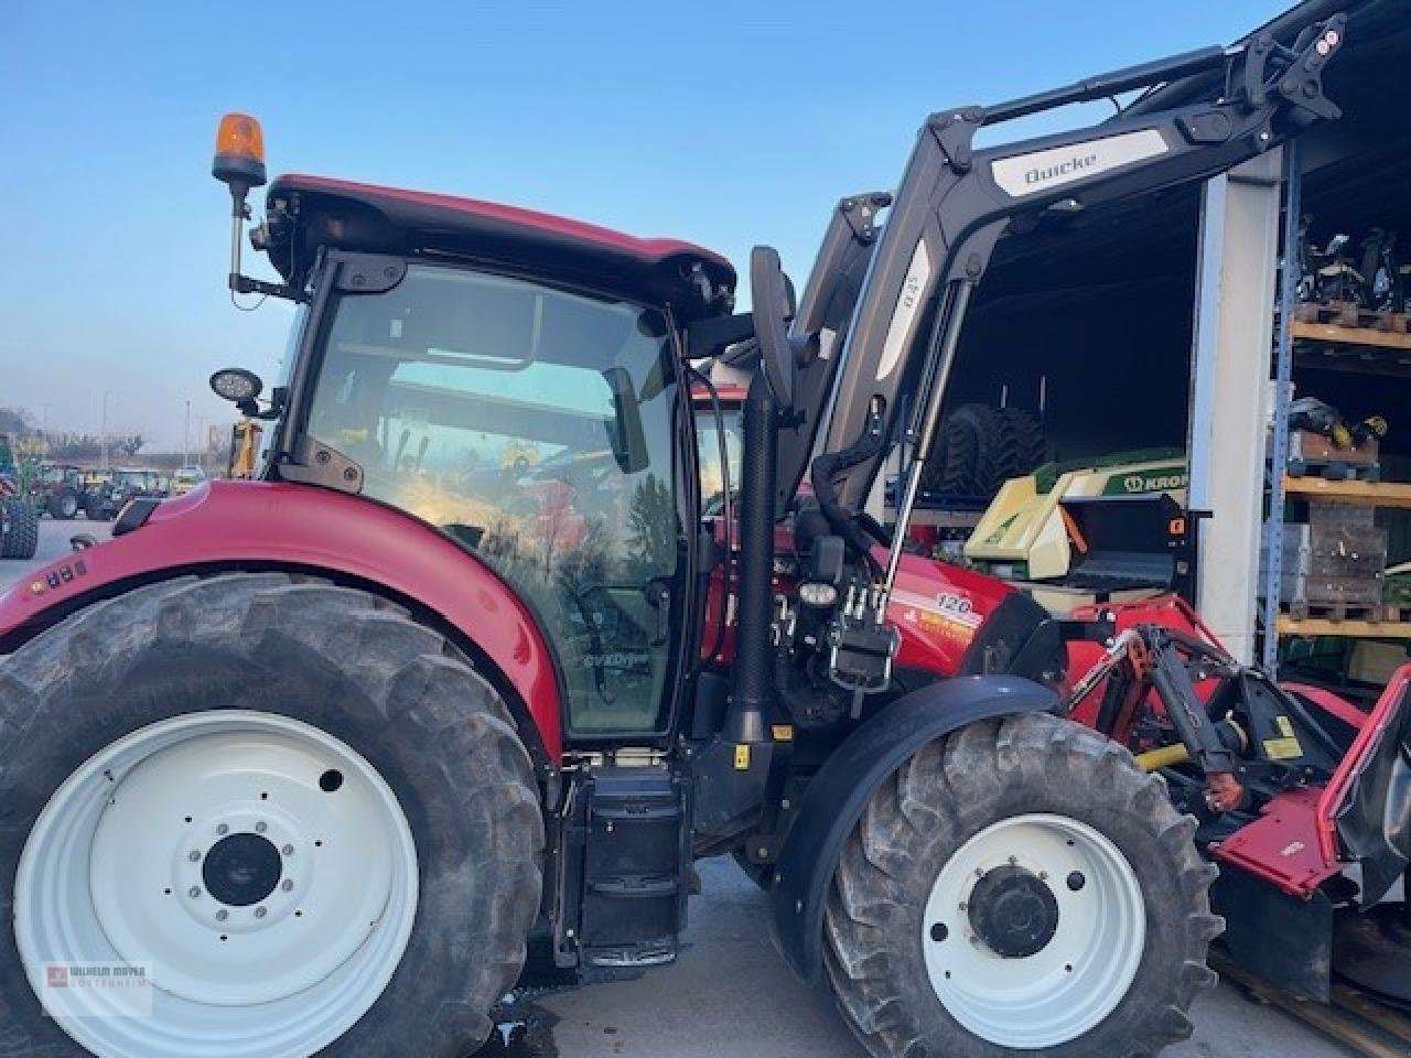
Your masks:
M835 457L831 516L861 509L885 456L878 442L895 436L897 398L906 392L913 398L904 433L910 473L895 540L904 539L967 305L1010 224L1037 221L1053 207L1085 209L1208 179L1315 120L1338 117L1324 96L1322 71L1342 44L1345 24L1345 16L1335 16L1309 25L1291 47L1264 35L1239 48L1189 52L989 109L933 114L917 137L845 336L820 446ZM1226 87L1213 99L974 148L983 126L1206 71L1225 75ZM931 320L924 340L923 319ZM873 454L856 463L837 458L859 446ZM899 559L897 543L885 587Z

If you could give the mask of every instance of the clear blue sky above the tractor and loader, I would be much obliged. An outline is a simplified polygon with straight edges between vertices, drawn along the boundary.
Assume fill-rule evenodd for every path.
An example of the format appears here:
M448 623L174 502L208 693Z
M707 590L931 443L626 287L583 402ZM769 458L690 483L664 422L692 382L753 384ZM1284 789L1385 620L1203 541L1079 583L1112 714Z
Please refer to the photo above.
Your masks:
M926 114L1226 44L1285 6L10 0L0 406L96 432L106 394L110 430L175 450L188 402L193 432L233 419L212 371L272 384L289 308L236 312L224 288L229 110L262 123L271 175L528 206L742 271L768 243L801 286L832 205L895 186ZM272 278L248 248L247 272Z

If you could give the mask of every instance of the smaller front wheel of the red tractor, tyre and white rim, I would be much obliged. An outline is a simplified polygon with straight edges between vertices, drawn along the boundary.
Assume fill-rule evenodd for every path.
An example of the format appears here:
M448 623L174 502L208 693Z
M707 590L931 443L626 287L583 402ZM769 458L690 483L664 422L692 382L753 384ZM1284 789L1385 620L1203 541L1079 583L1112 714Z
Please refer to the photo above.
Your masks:
M825 965L875 1058L1132 1058L1191 1033L1221 920L1194 821L1065 719L975 724L873 794Z

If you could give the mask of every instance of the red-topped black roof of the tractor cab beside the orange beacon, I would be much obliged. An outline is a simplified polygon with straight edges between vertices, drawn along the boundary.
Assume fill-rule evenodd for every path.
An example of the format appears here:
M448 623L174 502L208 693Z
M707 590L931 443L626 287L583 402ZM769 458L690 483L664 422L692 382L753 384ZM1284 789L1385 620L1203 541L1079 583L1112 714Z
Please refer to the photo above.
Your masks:
M319 245L337 245L484 262L667 303L682 320L734 302L735 269L704 247L516 206L292 174L275 179L267 207L270 260L286 281L308 269Z

